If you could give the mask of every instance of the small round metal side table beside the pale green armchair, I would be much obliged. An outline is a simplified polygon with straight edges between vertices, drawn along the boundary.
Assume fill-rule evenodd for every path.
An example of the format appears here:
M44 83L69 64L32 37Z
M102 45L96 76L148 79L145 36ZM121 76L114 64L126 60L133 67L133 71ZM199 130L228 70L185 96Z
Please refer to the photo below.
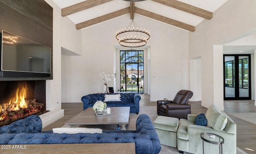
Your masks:
M220 146L220 154L222 154L222 144L224 144L224 138L213 133L201 133L201 139L203 140L203 154L204 154L204 141L210 144L217 144Z

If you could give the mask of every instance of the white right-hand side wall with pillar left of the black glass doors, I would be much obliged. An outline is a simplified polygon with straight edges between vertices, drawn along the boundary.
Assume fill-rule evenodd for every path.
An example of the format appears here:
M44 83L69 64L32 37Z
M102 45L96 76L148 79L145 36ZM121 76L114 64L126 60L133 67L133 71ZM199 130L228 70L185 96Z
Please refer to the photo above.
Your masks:
M219 83L223 82L223 66L218 65L223 64L223 55L214 53L214 45L255 33L256 20L252 20L256 18L255 6L255 0L228 0L214 12L211 20L204 20L195 32L190 32L189 57L202 57L202 106L216 104L224 109L223 85Z

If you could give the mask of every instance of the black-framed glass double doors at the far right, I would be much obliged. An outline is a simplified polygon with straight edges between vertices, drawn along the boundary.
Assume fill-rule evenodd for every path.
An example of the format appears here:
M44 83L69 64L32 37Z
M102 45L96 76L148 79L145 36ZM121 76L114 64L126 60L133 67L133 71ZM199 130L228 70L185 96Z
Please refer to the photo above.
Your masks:
M250 100L250 54L224 55L223 61L224 100Z

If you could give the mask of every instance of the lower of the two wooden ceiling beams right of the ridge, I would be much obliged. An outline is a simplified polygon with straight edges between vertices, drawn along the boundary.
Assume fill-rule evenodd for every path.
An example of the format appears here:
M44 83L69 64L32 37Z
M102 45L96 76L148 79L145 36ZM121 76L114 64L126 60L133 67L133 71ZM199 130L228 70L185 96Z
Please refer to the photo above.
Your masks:
M146 16L146 17L149 17L149 18L152 18L152 19L164 22L166 24L170 24L170 25L173 25L173 26L176 26L176 27L188 30L190 32L194 32L195 31L195 27L194 26L191 26L189 24L185 24L183 22L179 22L177 20L173 20L173 19L167 18L165 16L161 16L159 14L155 14L153 12L149 12L149 11L143 10L141 8L135 7L135 13L138 13L138 14L141 14L143 16Z

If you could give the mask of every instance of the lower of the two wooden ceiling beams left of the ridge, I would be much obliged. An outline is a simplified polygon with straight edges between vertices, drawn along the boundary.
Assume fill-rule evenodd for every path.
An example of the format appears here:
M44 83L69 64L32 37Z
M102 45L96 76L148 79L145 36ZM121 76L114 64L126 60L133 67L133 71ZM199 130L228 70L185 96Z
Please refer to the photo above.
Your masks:
M100 16L100 17L97 17L97 18L94 18L94 19L91 19L91 20L87 20L87 21L81 22L79 24L76 24L76 29L80 30L82 28L92 26L94 24L98 24L100 22L104 22L106 20L116 18L118 16L122 16L122 15L128 14L128 13L130 13L130 7L124 8L124 9L121 9L121 10L118 10L118 11L115 11L115 12L112 12L112 13L109 13L109 14L105 14L104 16Z

